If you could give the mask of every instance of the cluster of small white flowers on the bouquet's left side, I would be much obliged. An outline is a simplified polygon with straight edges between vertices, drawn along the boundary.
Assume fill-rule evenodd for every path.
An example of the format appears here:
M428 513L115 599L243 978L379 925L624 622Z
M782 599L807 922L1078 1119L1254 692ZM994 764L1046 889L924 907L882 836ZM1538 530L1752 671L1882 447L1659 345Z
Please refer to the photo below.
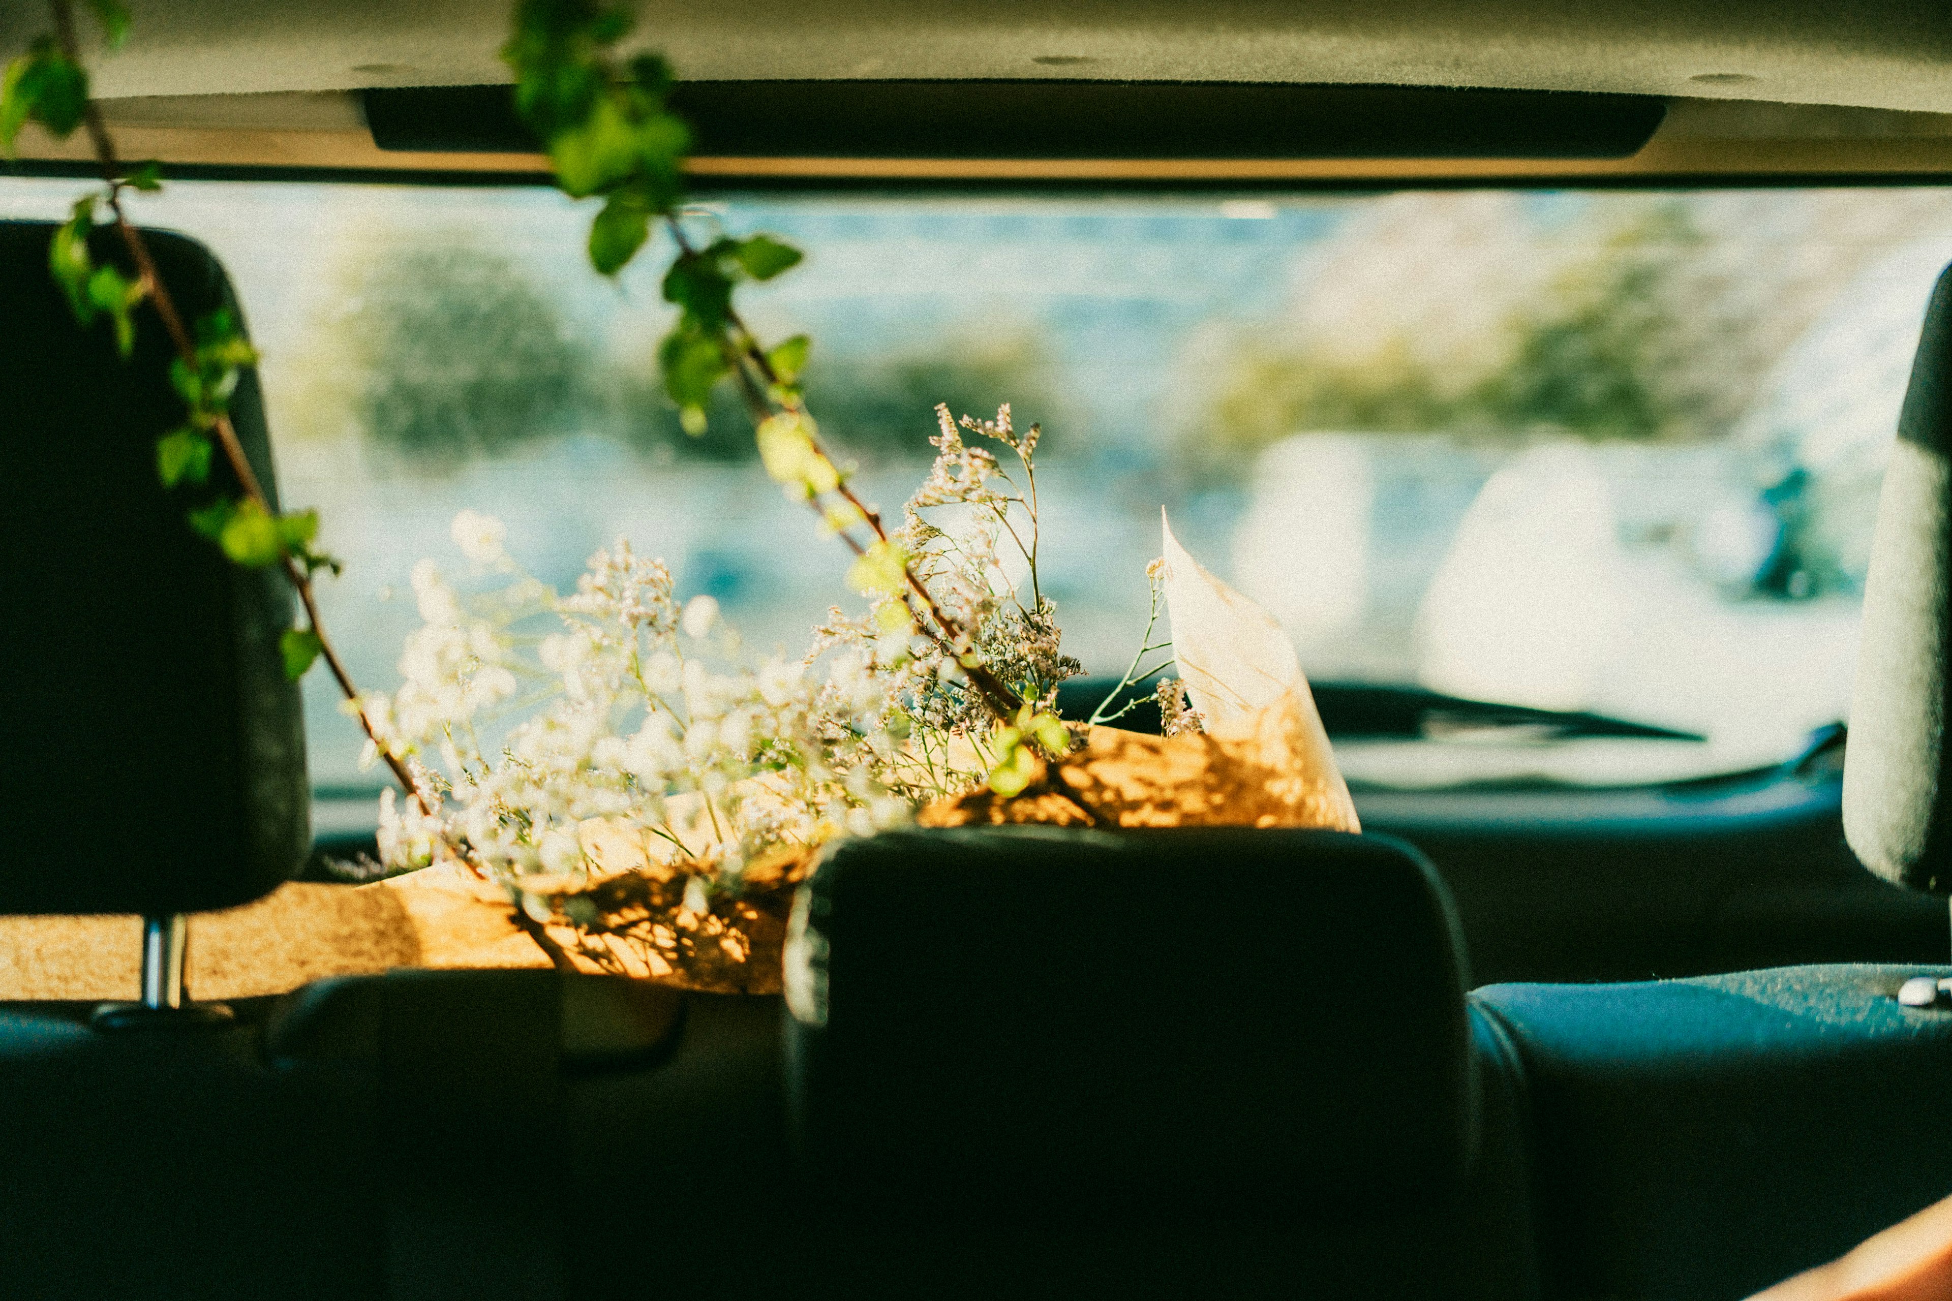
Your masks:
M716 601L679 605L670 570L623 540L558 595L509 558L498 521L463 511L453 536L500 585L463 595L431 560L414 568L404 681L365 702L429 792L426 808L381 796L388 868L461 864L504 886L539 940L568 919L599 967L697 973L746 962L753 880L910 817L884 780L900 710L857 648L750 657Z

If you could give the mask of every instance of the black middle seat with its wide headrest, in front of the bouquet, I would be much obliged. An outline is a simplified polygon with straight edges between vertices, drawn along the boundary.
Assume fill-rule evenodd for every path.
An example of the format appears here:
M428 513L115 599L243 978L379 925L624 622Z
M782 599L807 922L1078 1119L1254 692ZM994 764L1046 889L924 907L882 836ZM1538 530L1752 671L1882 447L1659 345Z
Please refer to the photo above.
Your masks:
M1503 1047L1400 843L880 835L796 926L820 1295L1532 1293Z

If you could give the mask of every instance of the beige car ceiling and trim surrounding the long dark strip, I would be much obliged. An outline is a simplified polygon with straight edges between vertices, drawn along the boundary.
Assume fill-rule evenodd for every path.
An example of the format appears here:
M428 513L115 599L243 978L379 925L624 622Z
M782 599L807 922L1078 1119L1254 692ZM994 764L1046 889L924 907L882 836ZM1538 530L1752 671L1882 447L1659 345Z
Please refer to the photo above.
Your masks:
M0 57L45 27L0 12ZM381 154L357 98L383 86L506 82L509 0L135 0L96 92L131 156L176 164L541 172L535 156ZM695 80L1062 78L1341 82L1630 92L1677 99L1644 156L1281 160L1154 168L1152 179L1526 177L1952 172L1952 6L1942 0L652 0L636 41ZM1731 101L1731 103L1724 103ZM1808 105L1808 107L1806 107ZM29 131L29 158L74 156ZM697 160L718 176L1118 177L1130 164L874 168Z

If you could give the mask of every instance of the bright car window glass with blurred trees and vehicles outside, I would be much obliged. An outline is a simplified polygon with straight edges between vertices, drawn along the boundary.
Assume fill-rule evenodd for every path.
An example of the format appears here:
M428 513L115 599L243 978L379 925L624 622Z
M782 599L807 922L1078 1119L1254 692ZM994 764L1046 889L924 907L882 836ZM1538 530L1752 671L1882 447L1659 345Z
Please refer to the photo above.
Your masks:
M64 179L0 215L64 217ZM1618 784L1796 753L1849 708L1882 458L1952 193L724 193L806 263L753 291L814 337L810 406L896 507L931 408L1040 421L1042 589L1117 677L1146 622L1159 507L1329 683L1698 733L1441 714L1337 745L1351 782ZM287 505L347 562L324 612L353 675L398 681L408 573L449 521L508 523L570 585L625 534L748 642L798 648L847 556L781 501L726 402L662 398L658 257L584 261L541 187L182 181L135 197L238 285ZM371 790L330 683L312 776ZM1325 710L1327 712L1327 710ZM1482 726L1480 726L1482 724Z

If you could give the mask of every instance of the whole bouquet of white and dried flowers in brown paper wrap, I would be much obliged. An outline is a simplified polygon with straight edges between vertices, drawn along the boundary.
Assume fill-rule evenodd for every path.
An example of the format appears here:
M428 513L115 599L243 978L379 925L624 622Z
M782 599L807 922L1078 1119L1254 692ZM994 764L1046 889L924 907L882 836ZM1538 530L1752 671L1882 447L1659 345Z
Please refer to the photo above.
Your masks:
M1357 827L1286 634L1169 529L1140 655L1113 692L1165 650L1163 607L1181 673L1158 689L1165 735L1105 726L1103 708L1060 720L1058 683L1079 665L1037 585L1038 431L1019 435L1007 406L937 421L935 464L892 534L902 572L863 556L851 583L867 614L832 611L800 657L748 653L711 597L681 601L629 542L556 593L519 570L498 521L457 517L455 542L494 585L463 595L422 562L404 685L361 702L416 778L416 796L383 796L381 858L404 876L379 887L402 891L424 952L541 950L773 993L793 887L841 835L912 819ZM1005 548L1021 583L1003 577ZM968 630L960 646L917 632L906 573ZM1021 708L1003 716L978 675Z

